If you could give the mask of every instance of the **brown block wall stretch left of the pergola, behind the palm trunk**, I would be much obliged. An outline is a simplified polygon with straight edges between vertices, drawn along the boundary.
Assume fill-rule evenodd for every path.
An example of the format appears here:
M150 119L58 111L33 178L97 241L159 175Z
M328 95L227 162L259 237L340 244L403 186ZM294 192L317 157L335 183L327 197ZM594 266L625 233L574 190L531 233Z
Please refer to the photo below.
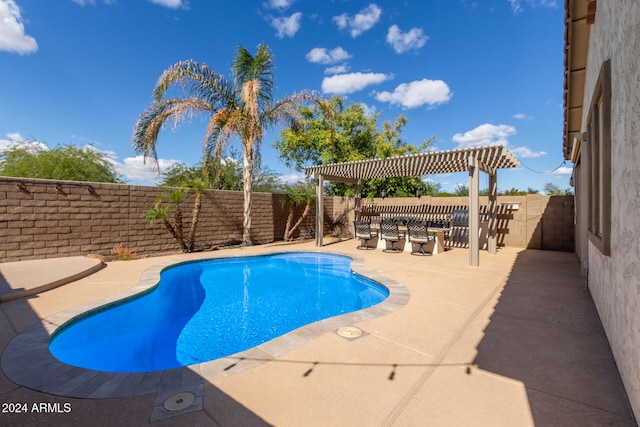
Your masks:
M110 255L118 243L139 255L179 251L161 222L150 224L144 217L163 192L158 187L0 177L0 262ZM282 239L288 211L281 198L253 194L254 243ZM181 203L185 234L193 201L187 194ZM204 192L196 245L240 242L242 220L242 192Z

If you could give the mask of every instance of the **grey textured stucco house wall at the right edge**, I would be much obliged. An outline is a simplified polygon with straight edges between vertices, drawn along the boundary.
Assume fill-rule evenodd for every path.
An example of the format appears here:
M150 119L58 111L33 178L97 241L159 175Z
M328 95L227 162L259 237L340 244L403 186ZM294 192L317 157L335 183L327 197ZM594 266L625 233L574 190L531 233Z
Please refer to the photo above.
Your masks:
M594 4L596 2L593 2ZM590 25L582 131L602 64L611 61L610 253L578 222L578 255L636 419L640 419L640 2L598 1ZM588 142L587 142L588 144ZM582 151L585 151L583 146ZM576 196L588 200L589 170L579 168ZM585 210L578 203L576 209ZM584 212L581 212L584 215ZM580 216L580 215L579 215ZM581 253L582 252L582 253ZM584 253L586 252L586 253ZM585 269L586 270L586 269Z

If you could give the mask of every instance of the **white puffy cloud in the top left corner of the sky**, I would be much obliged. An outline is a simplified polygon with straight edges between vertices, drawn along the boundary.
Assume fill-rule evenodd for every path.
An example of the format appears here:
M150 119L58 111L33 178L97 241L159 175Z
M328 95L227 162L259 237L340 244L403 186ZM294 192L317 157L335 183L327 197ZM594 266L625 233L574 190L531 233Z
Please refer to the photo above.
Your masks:
M28 55L38 50L36 39L24 32L20 8L14 0L0 0L0 51Z

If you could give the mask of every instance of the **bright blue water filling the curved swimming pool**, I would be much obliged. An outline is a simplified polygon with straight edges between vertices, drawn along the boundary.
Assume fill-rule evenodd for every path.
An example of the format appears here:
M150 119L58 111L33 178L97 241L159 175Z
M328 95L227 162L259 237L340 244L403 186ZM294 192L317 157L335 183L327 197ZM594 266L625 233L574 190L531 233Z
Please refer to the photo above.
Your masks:
M180 264L152 291L72 320L49 349L107 372L170 369L229 356L389 295L345 256L289 253Z

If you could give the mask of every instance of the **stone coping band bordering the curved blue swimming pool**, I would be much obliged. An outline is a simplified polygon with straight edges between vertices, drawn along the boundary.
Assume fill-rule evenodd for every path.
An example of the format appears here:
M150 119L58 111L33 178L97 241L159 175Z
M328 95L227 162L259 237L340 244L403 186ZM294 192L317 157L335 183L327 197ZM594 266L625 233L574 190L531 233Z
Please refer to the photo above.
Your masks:
M280 249L257 256L291 252L318 253L319 251ZM27 328L7 344L0 359L0 367L4 374L16 384L57 396L115 398L156 393L151 421L201 410L205 379L216 380L273 361L327 332L336 332L340 327L352 326L390 314L409 301L409 290L405 286L365 268L364 258L361 256L338 251L321 252L350 258L352 260L350 267L355 273L385 286L389 290L389 296L373 307L305 325L249 350L180 368L140 373L103 372L67 365L51 354L49 339L56 330L64 327L76 316L149 292L158 284L160 273L167 268L205 259L243 258L253 255L222 255L186 261L168 261L146 269L138 284L127 291L56 313ZM193 393L194 402L179 411L166 410L163 406L164 402L180 392Z

